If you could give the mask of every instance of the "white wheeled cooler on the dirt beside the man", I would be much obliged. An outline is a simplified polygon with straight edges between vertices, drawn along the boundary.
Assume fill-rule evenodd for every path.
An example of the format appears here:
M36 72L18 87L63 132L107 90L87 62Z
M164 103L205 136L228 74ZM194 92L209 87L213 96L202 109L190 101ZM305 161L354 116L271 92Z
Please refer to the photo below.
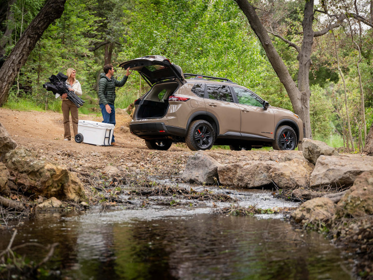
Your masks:
M109 146L111 145L113 132L114 125L112 124L80 120L78 122L78 137L75 137L75 141L98 146Z

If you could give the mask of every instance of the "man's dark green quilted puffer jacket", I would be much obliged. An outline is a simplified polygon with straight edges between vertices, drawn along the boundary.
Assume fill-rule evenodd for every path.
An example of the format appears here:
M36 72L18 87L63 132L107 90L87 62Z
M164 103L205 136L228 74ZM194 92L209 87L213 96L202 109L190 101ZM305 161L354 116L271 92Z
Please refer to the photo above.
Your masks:
M126 82L128 77L124 75L122 81L116 80L114 77L111 77L111 80L106 77L105 73L101 73L99 81L99 104L112 104L114 105L115 102L115 87L116 86L123 86Z

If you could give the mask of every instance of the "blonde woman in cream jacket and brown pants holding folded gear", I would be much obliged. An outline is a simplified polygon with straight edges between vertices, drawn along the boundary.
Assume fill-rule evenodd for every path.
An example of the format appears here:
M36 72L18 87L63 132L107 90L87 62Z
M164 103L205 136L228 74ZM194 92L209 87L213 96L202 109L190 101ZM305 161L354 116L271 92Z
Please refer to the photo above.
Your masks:
M81 96L82 95L82 88L80 83L75 79L76 71L73 68L67 69L67 80L66 85L68 86L68 90L74 92L74 94ZM63 128L65 133L63 135L64 141L71 140L71 132L70 132L70 118L69 114L71 112L71 119L73 121L73 130L74 130L74 137L78 133L78 107L70 100L67 99L67 94L63 94L62 97L62 114L63 114Z

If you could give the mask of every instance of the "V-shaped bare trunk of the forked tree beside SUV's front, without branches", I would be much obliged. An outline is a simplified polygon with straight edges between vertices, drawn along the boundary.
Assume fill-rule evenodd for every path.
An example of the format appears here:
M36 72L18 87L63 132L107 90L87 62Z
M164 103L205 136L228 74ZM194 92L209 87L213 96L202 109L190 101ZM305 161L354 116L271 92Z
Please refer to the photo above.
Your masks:
M288 68L286 67L284 61L278 55L276 49L272 44L272 40L269 37L266 28L263 26L260 18L258 17L257 13L255 12L254 7L249 4L247 0L235 0L240 7L240 9L244 12L247 19L249 20L249 24L251 29L259 38L260 42L263 45L263 48L267 54L269 62L271 63L274 71L277 74L278 79L284 85L291 104L293 105L293 109L296 114L299 115L300 119L303 121L306 134L304 135L307 138L311 138L311 122L310 122L310 89L309 89L309 78L308 73L310 71L311 65L311 48L313 42L313 31L312 31L312 20L313 20L313 0L310 0L308 3L306 2L305 12L307 11L307 18L304 20L303 24L306 26L306 34L304 34L304 40L306 41L302 44L301 54L299 56L299 67L302 67L302 72L300 75L301 88L304 90L301 92L298 87L296 86L295 82L290 76ZM310 15L310 9L312 9L312 15ZM312 36L309 38L309 36ZM302 64L300 66L300 64ZM307 78L306 78L307 75ZM299 86L299 85L298 85ZM302 128L300 128L302 129Z

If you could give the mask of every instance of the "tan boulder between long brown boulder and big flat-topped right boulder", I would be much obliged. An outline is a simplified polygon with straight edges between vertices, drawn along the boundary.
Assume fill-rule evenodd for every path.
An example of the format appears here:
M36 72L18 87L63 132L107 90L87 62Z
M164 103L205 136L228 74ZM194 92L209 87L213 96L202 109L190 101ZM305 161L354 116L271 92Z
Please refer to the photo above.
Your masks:
M314 165L305 159L294 158L275 165L270 171L271 180L280 189L308 186Z

